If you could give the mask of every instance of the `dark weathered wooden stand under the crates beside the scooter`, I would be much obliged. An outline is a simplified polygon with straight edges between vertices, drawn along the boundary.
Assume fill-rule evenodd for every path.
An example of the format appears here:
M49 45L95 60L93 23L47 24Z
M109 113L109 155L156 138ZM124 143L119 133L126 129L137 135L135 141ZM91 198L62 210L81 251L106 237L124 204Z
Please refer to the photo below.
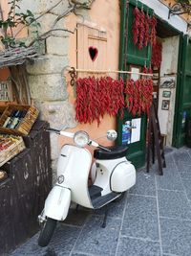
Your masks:
M38 230L37 216L52 188L49 124L36 121L23 136L26 149L5 163L0 182L0 255L10 255Z

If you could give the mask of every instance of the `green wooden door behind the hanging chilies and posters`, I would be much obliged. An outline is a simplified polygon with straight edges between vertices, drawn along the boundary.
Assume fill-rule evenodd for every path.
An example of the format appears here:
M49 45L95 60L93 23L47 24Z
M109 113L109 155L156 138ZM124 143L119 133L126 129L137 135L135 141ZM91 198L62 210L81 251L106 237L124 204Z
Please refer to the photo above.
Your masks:
M127 2L130 2L129 5ZM145 47L139 51L138 47L133 43L133 11L137 4L136 0L121 0L121 21L120 21L120 53L119 53L119 70L129 70L130 66L136 65L142 68L145 64L150 65L151 60L151 46ZM152 13L153 11L147 6L138 2L138 8L143 8L144 12ZM125 79L125 77L123 77ZM128 134L125 134L126 124L131 124L138 117L133 117L127 110L125 110L124 118L117 119L117 132L119 145L126 145L129 140ZM137 119L138 120L138 119ZM146 116L140 117L140 136L137 142L128 144L129 150L127 154L128 160L138 168L145 163L145 147L146 147ZM128 123L129 122L129 123Z

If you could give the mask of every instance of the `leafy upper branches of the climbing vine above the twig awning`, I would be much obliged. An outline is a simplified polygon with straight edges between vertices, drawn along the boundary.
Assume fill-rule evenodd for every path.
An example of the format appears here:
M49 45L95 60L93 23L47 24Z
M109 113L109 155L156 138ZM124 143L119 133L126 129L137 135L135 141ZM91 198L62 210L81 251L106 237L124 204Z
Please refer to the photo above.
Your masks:
M5 19L3 15L3 11L0 4L0 29L3 30L4 36L1 36L1 41L5 45L6 48L9 47L30 47L34 44L36 41L45 40L49 36L53 35L53 32L55 31L63 31L74 34L74 31L70 31L67 29L57 29L55 28L55 25L57 22L66 17L71 12L74 12L75 15L77 13L76 10L79 9L90 9L91 5L95 0L86 0L86 1L80 1L80 0L68 0L69 7L68 10L65 10L62 14L55 17L53 26L50 28L50 30L46 31L43 34L39 34L38 29L41 26L41 24L38 22L39 18L41 18L46 13L51 12L55 7L57 7L63 0L59 0L56 2L49 10L46 10L45 12L41 13L38 16L35 16L30 10L27 10L27 12L20 12L19 7L19 1L20 0L11 0L9 2L10 5L10 12L8 13L8 17ZM18 40L16 37L17 35L24 30L25 28L32 27L32 33L33 33L33 39L28 45L26 45L25 41ZM15 31L16 33L13 33Z

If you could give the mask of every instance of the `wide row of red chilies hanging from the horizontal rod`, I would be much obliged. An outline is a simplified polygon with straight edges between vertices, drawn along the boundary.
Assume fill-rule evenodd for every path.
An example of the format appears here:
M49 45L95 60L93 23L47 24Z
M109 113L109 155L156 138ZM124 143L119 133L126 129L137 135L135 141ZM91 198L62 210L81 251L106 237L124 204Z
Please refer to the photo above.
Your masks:
M151 70L144 70L149 73ZM123 117L127 107L133 115L149 113L152 104L153 81L141 79L124 81L110 77L96 79L89 77L76 81L75 118L79 123L100 124L104 114ZM125 95L125 99L124 99Z

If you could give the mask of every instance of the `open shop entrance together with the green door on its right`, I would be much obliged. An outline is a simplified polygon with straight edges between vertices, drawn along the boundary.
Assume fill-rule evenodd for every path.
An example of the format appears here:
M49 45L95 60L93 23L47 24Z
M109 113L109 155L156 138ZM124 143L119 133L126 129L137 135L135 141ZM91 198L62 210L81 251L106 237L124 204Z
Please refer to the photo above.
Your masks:
M157 34L162 61L159 70L154 67L154 91L160 130L165 145L180 148L185 144L186 120L191 117L191 40L161 20Z

